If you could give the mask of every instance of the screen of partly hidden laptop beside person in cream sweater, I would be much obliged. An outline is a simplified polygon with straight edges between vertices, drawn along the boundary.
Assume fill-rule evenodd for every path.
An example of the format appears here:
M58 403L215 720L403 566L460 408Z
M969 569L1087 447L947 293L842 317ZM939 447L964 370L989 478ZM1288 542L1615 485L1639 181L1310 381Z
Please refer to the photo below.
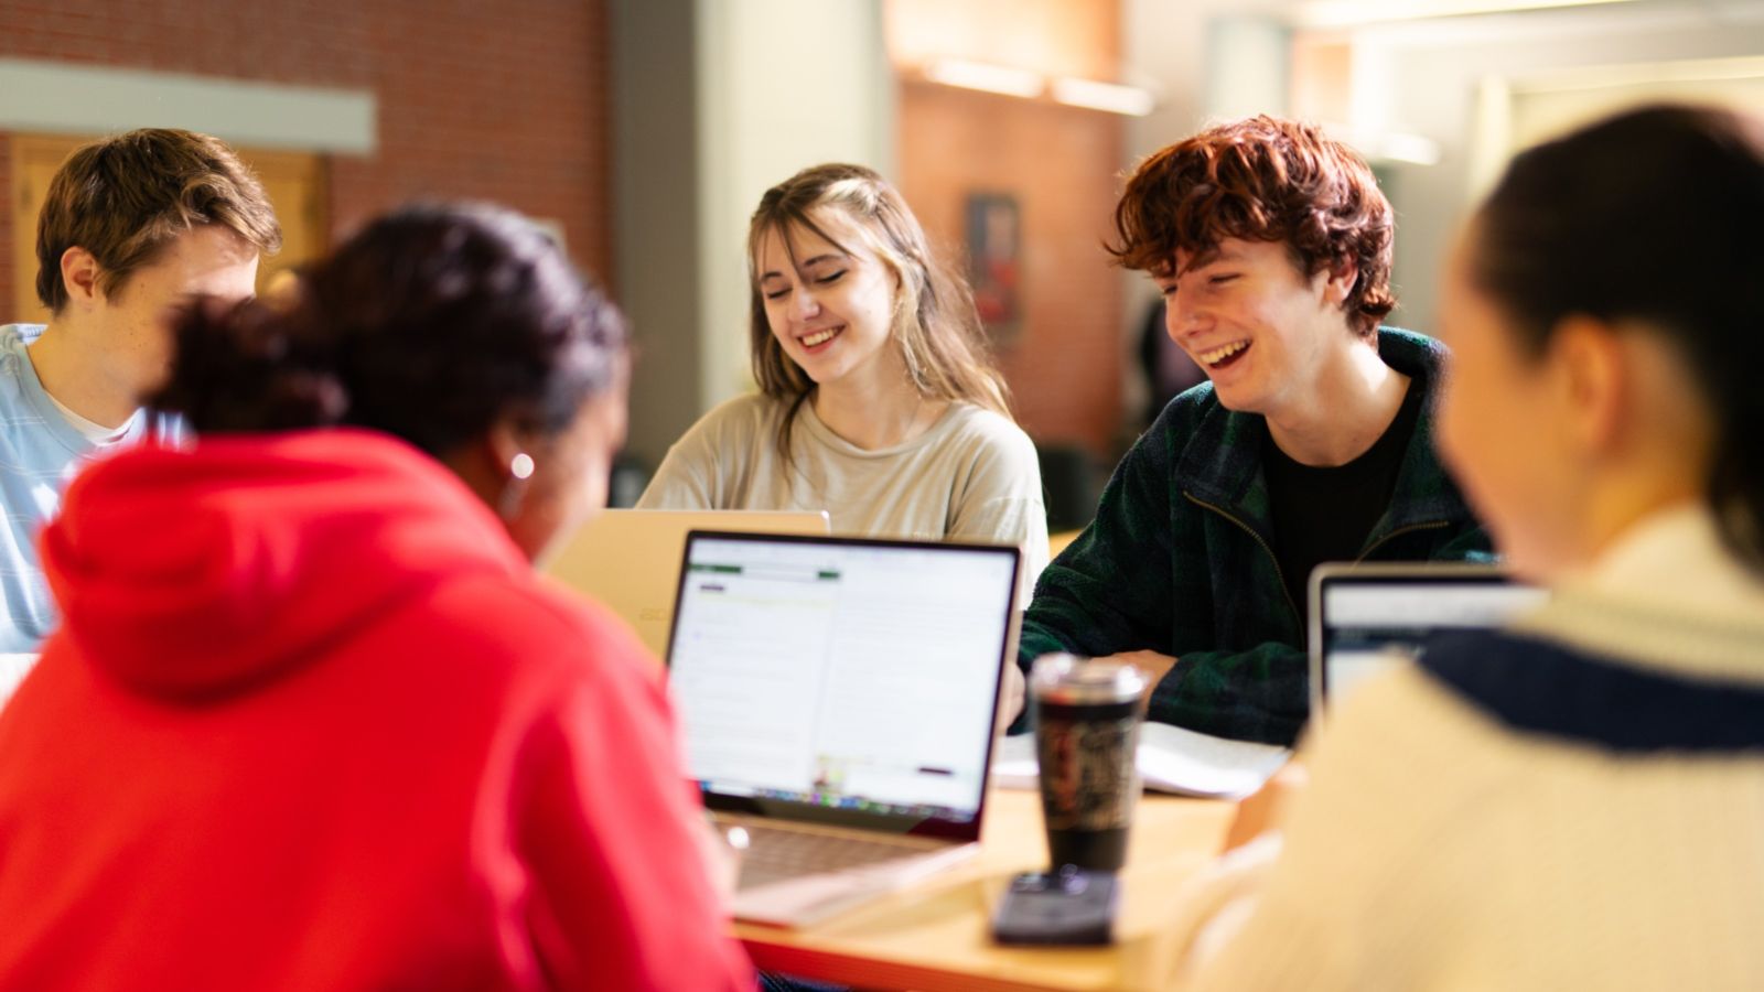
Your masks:
M1503 579L1335 581L1323 586L1323 683L1330 701L1402 658L1427 637L1506 625L1545 591Z

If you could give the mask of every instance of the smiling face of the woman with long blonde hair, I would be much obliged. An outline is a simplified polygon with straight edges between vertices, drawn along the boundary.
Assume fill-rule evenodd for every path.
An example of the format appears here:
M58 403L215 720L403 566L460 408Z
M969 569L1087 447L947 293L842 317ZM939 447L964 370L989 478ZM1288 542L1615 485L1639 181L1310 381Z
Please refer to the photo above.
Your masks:
M840 244L808 228L774 228L759 240L755 291L773 337L818 387L901 372L894 274L843 215L822 208L810 217Z

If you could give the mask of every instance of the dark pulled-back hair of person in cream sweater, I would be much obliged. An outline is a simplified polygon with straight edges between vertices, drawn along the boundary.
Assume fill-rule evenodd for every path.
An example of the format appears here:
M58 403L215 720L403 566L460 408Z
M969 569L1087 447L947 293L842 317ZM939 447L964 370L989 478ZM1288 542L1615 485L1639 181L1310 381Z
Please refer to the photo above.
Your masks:
M1475 229L1476 282L1536 351L1572 314L1679 349L1715 422L1709 505L1764 572L1764 127L1713 108L1623 113L1514 159Z

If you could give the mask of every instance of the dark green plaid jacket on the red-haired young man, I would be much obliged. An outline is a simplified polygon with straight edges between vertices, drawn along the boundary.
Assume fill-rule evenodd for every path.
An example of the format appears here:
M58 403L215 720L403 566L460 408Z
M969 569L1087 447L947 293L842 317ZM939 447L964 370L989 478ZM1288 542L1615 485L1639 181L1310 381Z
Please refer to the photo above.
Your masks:
M1378 353L1424 390L1395 491L1360 560L1487 560L1489 538L1434 455L1445 346L1379 328ZM1305 632L1274 558L1259 415L1201 383L1122 459L1095 521L1041 574L1018 664L1048 651L1154 650L1178 658L1147 717L1289 745L1311 708ZM1021 720L1020 727L1021 729Z

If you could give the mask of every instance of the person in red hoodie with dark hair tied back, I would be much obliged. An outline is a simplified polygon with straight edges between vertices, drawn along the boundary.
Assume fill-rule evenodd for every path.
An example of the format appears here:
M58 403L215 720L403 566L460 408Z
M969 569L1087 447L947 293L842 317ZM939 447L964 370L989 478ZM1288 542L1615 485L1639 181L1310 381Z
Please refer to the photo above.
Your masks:
M531 561L605 501L623 321L513 214L198 311L42 537L0 988L751 988L663 687Z

